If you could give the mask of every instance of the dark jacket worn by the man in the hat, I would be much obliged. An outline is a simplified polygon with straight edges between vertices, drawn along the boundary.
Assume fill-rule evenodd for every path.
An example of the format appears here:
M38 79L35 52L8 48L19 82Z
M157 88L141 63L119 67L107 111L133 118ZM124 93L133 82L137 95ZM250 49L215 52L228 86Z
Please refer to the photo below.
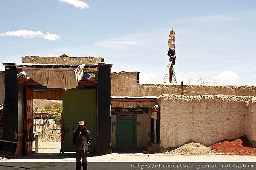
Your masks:
M79 131L80 131L80 128L77 127L76 130L74 130L73 139L72 139L73 147L75 148L76 151L79 150L79 144L80 144ZM90 131L87 130L86 127L84 127L82 129L82 136L81 137L82 137L83 151L87 152L89 150L90 145L91 145L91 137L90 137Z

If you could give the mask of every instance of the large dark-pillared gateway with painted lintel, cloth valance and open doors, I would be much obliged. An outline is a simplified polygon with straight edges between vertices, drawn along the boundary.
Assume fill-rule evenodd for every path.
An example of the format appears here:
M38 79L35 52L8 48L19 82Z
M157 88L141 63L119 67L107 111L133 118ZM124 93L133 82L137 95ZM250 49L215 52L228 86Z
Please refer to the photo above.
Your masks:
M6 63L4 65L6 66L5 75L8 78L5 79L6 105L3 114L5 128L3 128L0 148L3 154L21 156L32 152L33 99L63 101L62 152L74 151L71 143L73 130L79 120L84 119L93 138L89 151L97 154L111 153L109 110L112 65L105 63L94 65ZM27 76L30 74L35 76L33 78L36 81L31 76ZM27 96L26 91L31 93ZM29 134L29 132L32 133Z

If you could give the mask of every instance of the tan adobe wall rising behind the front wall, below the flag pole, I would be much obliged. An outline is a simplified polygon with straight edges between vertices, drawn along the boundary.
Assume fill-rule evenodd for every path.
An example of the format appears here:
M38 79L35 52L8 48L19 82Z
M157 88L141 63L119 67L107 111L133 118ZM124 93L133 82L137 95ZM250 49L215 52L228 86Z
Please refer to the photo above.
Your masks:
M181 85L139 84L137 83L137 74L139 74L139 72L111 73L111 96L160 96L162 94L181 94ZM184 85L183 94L189 96L200 94L256 96L256 86Z

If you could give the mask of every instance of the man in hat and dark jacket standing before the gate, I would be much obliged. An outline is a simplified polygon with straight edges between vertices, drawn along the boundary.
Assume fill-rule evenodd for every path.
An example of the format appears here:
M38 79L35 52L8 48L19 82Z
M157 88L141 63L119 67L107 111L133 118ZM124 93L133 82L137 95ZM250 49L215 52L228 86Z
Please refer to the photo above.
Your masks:
M90 131L84 125L84 121L79 121L79 125L74 130L73 147L76 150L76 170L81 169L81 158L83 170L87 170L87 151L91 145Z

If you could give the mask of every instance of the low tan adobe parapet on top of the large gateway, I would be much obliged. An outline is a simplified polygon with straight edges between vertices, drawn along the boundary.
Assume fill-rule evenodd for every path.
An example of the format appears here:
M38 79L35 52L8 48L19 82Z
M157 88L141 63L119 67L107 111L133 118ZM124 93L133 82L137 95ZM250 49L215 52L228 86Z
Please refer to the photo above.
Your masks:
M42 57L42 56L25 56L22 57L23 63L33 64L98 64L103 62L102 57Z

